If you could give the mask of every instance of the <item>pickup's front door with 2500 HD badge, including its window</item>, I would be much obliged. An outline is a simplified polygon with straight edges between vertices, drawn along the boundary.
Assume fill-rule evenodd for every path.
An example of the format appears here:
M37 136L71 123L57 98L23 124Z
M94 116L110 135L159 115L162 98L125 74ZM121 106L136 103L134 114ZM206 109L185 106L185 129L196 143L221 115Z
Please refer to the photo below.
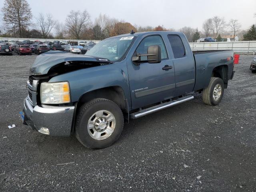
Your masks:
M147 54L148 46L158 45L161 48L161 62L148 63L142 56L140 65L132 59L128 66L132 109L172 98L175 90L173 62L168 58L166 46L160 35L147 36L136 48L136 53ZM129 62L129 61L128 61ZM170 69L165 69L169 66Z

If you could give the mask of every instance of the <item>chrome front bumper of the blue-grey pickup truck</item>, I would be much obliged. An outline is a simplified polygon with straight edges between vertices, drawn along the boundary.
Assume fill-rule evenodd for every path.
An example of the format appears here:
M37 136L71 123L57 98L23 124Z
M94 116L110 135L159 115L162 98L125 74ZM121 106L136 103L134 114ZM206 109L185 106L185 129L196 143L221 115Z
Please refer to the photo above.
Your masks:
M69 136L72 128L74 106L32 106L27 97L24 100L23 124L43 134Z

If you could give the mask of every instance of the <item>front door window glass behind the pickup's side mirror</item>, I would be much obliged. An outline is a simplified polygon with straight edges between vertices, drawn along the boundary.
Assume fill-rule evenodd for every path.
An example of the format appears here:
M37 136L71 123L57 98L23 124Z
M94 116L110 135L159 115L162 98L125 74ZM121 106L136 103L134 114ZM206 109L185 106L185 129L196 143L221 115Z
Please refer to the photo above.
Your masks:
M141 42L138 48L136 49L137 54L147 54L148 53L148 47L150 45L159 45L161 48L161 59L166 59L167 58L167 52L166 48L164 45L164 42L162 38L159 35L154 35L154 36L148 36L144 38ZM147 56L142 56L140 57L140 60L147 60Z

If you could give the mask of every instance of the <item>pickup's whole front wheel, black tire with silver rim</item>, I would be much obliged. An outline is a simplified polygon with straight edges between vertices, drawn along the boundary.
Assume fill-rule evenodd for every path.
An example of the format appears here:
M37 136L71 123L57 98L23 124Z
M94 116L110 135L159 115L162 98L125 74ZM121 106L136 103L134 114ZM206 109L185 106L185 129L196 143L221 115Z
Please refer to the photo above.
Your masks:
M94 115L102 112L102 115ZM105 115L110 117L112 114L112 121L107 121L108 118L104 118ZM101 118L99 118L102 116ZM106 117L106 116L105 116ZM97 123L100 124L96 125ZM89 123L92 122L92 124ZM105 125L100 130L101 123ZM96 126L100 131L96 130ZM110 134L104 131L109 127L113 129ZM104 98L93 99L86 104L82 105L76 119L76 138L80 143L88 148L105 148L113 144L119 137L124 127L124 116L118 105L110 100ZM97 136L98 139L93 138L92 135Z

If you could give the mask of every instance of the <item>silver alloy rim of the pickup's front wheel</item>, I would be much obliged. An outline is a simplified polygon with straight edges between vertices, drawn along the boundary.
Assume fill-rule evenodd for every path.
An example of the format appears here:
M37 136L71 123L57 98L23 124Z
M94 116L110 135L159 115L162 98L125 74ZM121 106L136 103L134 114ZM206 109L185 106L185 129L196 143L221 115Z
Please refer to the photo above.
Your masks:
M88 120L87 130L89 135L95 140L108 138L116 127L116 119L108 110L95 112Z

